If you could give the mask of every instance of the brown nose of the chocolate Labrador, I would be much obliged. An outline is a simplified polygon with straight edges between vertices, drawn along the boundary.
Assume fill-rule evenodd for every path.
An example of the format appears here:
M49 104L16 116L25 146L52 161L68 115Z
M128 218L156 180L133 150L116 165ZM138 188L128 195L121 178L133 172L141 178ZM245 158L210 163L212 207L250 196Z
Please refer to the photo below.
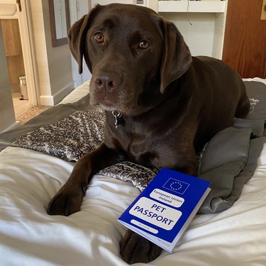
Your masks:
M112 92L120 83L121 78L116 73L101 74L94 79L95 87L106 92Z

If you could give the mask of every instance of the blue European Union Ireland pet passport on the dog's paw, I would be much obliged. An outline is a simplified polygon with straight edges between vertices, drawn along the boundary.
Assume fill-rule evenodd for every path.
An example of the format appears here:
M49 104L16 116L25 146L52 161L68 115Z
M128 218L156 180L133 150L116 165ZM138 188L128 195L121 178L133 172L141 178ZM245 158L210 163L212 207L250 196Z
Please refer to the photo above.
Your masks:
M209 194L210 184L163 168L118 221L171 253Z

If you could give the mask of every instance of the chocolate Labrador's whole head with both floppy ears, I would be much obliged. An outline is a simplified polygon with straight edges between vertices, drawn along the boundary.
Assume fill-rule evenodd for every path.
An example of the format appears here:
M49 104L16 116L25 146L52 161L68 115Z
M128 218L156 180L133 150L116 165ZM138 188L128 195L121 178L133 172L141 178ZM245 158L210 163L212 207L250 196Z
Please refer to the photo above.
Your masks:
M90 104L110 111L152 108L149 98L160 97L192 62L174 24L140 6L98 5L74 23L69 40L79 73L83 57L92 72Z

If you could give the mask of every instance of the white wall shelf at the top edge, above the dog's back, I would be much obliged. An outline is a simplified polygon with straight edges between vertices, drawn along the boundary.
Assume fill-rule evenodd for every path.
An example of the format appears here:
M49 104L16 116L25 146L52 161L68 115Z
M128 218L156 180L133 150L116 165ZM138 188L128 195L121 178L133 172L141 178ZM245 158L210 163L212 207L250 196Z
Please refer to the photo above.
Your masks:
M187 12L187 10L194 13L224 13L226 1L158 1L158 12Z

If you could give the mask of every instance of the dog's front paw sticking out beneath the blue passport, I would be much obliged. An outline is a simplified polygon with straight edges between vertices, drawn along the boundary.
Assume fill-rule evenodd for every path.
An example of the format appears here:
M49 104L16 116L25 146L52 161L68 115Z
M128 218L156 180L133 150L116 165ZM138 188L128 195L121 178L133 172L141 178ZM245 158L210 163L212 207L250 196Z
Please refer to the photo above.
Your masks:
M128 264L148 263L155 260L161 251L160 247L131 230L126 231L120 242L121 257Z

